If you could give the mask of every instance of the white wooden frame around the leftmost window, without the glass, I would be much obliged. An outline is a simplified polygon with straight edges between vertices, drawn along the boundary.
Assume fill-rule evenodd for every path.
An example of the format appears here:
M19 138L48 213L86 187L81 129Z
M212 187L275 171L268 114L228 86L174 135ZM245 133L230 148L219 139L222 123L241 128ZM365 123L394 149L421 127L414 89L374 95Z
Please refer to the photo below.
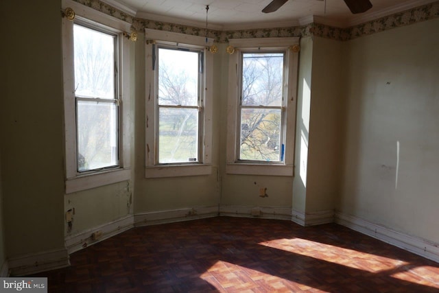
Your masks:
M62 54L64 75L64 139L65 139L65 192L71 194L86 189L129 180L130 175L130 40L123 37L130 32L130 23L88 8L71 0L62 0L62 9L72 8L75 19L91 27L104 27L119 38L119 165L112 169L78 172L76 138L75 73L73 62L73 24L62 18Z

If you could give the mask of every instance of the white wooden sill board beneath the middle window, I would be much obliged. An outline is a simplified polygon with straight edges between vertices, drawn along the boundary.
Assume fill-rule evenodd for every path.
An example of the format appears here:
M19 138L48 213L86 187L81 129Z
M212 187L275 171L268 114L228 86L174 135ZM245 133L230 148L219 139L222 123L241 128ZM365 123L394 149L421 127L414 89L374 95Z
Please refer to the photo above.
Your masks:
M145 167L145 178L200 176L212 174L212 165L157 165Z

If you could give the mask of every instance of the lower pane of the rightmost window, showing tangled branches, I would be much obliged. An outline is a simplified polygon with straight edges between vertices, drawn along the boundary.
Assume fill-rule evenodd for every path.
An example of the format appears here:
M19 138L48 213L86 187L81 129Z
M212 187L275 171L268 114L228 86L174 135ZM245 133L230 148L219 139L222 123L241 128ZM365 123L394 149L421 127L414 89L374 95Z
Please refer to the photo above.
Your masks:
M240 160L281 161L281 109L241 110Z

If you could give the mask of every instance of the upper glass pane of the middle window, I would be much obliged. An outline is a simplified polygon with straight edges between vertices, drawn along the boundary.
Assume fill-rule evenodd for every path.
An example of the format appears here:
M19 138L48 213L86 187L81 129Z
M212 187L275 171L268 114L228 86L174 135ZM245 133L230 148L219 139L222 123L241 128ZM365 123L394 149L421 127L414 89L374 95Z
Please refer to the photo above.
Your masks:
M158 104L198 105L198 54L158 49Z

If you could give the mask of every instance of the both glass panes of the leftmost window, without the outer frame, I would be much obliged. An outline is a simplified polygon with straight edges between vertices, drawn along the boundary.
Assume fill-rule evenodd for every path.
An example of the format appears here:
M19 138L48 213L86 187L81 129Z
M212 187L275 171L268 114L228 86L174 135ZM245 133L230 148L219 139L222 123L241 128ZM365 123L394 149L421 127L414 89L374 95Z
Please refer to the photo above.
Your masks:
M116 38L73 26L78 172L119 164Z

